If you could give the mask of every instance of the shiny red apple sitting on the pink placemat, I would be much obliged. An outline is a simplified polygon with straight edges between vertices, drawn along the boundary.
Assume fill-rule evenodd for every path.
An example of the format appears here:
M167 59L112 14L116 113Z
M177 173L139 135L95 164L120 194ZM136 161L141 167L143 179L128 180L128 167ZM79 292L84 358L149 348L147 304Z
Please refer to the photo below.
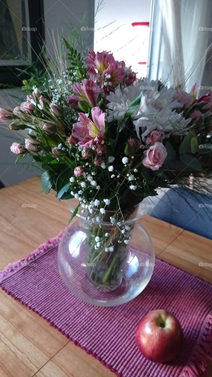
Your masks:
M139 322L135 340L143 356L157 363L165 363L180 352L183 330L171 313L153 310Z

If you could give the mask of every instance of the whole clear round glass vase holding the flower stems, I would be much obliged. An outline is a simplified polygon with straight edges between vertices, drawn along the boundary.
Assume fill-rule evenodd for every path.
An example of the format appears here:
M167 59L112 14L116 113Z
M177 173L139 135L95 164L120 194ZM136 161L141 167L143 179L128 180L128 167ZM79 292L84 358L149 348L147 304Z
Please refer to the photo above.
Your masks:
M70 205L72 210L72 204ZM138 206L124 224L114 226L107 211L100 222L78 211L58 248L58 267L75 296L99 306L115 306L138 296L154 269L154 248L141 225Z

